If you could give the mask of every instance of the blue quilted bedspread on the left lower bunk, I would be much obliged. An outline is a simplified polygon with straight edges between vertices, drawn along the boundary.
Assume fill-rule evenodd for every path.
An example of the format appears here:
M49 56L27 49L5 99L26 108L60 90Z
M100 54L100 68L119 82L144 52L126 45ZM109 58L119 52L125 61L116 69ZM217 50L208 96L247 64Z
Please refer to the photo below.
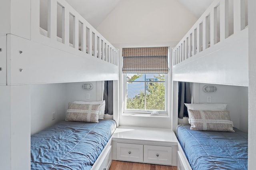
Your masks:
M31 170L89 170L115 128L113 120L46 128L31 136Z

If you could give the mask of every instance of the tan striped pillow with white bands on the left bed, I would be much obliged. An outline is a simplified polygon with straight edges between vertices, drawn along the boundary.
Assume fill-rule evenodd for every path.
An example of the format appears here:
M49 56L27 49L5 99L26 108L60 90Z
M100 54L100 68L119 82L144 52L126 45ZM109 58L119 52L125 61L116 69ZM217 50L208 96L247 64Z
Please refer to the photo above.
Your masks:
M68 103L65 121L99 122L100 105Z

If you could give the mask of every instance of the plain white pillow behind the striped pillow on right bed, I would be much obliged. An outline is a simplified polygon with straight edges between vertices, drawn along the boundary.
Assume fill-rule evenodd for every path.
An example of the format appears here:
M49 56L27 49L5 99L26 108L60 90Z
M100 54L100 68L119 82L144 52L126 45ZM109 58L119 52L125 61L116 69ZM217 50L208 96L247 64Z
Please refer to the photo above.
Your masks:
M184 103L188 110L194 110L194 111L226 111L227 104L222 103L202 103L202 104L196 104L196 103Z

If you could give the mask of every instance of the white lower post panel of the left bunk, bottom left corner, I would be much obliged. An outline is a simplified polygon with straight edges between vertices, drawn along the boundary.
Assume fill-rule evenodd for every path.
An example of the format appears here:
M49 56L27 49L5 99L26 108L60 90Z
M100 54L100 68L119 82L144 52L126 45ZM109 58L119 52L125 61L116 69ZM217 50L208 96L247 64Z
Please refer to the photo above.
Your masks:
M3 170L30 169L30 86L0 86L0 164Z

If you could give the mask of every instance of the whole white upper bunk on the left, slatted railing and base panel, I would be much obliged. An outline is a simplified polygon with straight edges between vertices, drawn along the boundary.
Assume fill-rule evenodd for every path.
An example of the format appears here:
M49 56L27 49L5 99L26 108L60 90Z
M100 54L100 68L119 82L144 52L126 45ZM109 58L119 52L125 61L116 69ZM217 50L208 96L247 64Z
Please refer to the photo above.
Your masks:
M0 85L118 80L118 49L65 0L3 6Z

